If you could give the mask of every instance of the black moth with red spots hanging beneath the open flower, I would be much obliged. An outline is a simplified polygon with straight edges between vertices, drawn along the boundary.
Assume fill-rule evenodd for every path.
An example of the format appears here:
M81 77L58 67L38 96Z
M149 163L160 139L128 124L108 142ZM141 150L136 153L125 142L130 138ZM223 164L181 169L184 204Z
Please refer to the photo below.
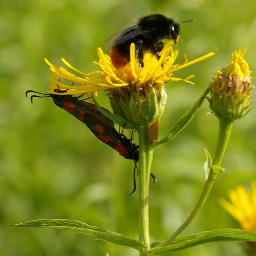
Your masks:
M56 92L61 90L55 89ZM28 93L35 91L27 91ZM62 92L67 92L62 90ZM42 93L39 93L42 94ZM134 144L131 139L128 139L125 135L118 133L114 127L114 122L108 117L103 116L96 108L94 104L80 100L78 97L72 95L57 95L57 94L44 94L48 96L33 97L52 97L54 103L61 109L66 110L71 115L79 119L81 122L87 125L92 133L102 142L108 144L120 155L126 159L133 159L135 162L139 160L139 146ZM106 110L108 111L108 110Z

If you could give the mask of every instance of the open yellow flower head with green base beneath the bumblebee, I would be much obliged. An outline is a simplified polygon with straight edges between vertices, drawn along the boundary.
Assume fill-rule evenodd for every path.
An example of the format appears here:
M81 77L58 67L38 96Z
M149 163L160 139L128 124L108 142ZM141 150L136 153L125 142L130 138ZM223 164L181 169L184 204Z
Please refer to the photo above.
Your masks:
M115 48L112 49L110 56L98 48L99 60L98 62L94 61L94 63L99 66L100 70L91 73L77 70L65 59L62 59L63 63L73 72L63 67L56 68L46 59L53 72L49 79L50 87L62 90L62 95L108 90L115 114L125 118L127 122L133 125L152 123L159 120L164 110L166 103L165 83L184 81L193 84L189 79L194 75L177 78L174 77L174 72L215 54L209 53L192 61L188 61L185 57L183 63L175 63L179 52L173 50L172 44L173 41L166 44L159 53L160 58L150 51L145 52L142 69L139 68L139 61L136 58L135 44L131 44L130 47L130 60L120 54L118 55L118 52L115 53ZM58 94L58 90L49 93Z

